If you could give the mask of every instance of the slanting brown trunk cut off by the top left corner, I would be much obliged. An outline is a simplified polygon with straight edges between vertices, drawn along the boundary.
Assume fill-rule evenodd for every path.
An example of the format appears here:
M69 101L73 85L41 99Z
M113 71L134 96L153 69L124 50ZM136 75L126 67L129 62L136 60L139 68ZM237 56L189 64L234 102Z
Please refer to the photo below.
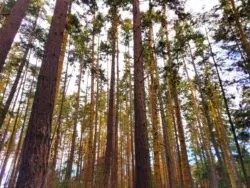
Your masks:
M17 0L11 9L8 20L0 30L0 73L3 71L8 52L29 7L29 3L30 0Z

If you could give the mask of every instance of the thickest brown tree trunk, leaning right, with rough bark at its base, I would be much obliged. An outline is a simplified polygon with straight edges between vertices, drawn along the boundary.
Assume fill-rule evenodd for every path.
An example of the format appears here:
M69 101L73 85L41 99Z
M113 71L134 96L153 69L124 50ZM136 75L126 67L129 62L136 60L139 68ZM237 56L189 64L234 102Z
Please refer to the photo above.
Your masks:
M23 145L17 188L42 187L48 173L57 68L69 0L57 0Z

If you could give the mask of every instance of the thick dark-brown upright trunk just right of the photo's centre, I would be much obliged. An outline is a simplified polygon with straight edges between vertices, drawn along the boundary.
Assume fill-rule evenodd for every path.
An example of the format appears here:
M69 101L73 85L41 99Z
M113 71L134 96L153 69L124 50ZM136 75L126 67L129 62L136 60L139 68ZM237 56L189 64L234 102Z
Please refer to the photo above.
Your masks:
M139 0L133 0L133 23L136 187L149 188L152 187L152 184L146 122L141 13Z

